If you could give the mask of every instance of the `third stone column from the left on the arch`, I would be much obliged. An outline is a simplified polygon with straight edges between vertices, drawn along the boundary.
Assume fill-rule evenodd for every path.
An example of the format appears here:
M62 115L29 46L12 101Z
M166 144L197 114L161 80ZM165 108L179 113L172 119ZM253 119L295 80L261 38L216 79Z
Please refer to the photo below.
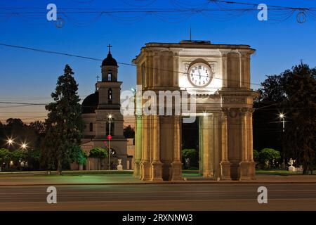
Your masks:
M159 115L152 116L152 181L162 181L162 162L160 161L160 122Z

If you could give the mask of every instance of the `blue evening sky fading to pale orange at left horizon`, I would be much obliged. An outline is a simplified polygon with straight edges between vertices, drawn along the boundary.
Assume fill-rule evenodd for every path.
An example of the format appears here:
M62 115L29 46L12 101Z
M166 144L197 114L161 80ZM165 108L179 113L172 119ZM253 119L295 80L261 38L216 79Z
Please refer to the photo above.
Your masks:
M308 0L236 1L316 8L315 1ZM205 2L204 0L1 0L0 12L8 11L8 7L22 7L22 9L11 8L10 11L13 12L25 12L26 9L23 7L34 7L31 11L42 12L42 14L12 16L0 14L0 42L92 58L105 58L107 44L110 43L113 46L112 55L118 62L131 63L145 43L178 42L188 39L191 26L192 39L210 40L213 44L249 44L256 49L256 53L251 58L252 83L258 84L265 79L265 75L278 74L291 68L301 59L312 67L316 65L316 18L312 18L311 15L307 16L306 23L300 24L296 22L296 13L288 20L279 23L272 20L279 16L268 12L268 21L260 22L257 20L258 11L239 17L225 13L216 13L216 15L196 13L185 20L176 20L183 15L148 14L138 18L139 13L131 15L124 13L116 16L103 14L96 18L96 14L58 14L65 19L65 26L60 29L55 27L53 22L46 20L46 6L49 3L56 4L58 8L91 8L91 11L106 11L113 8L128 10L140 6L199 7ZM196 5L189 6L189 4ZM209 4L209 7L216 8L216 5ZM122 18L126 16L132 16L138 21ZM100 75L99 61L0 46L0 101L32 103L51 101L50 94L66 63L75 72L74 77L79 84L81 98L93 93L96 76ZM119 65L119 80L124 82L123 90L135 86L136 68ZM257 89L258 86L253 88ZM1 121L13 116L30 121L46 115L43 107L12 106L14 105L4 108L8 105L0 104Z

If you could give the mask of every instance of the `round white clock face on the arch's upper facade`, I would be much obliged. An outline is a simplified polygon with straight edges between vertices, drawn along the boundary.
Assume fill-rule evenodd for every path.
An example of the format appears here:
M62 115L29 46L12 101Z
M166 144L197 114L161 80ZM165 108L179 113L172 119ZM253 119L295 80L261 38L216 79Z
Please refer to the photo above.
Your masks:
M211 69L204 63L196 63L189 68L187 79L194 86L207 86L211 82Z

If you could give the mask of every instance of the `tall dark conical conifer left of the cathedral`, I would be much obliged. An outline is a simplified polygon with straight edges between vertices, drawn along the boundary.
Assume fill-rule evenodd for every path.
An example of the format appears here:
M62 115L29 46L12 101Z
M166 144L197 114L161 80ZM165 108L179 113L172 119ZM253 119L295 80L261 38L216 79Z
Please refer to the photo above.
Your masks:
M59 174L63 165L74 161L74 152L78 150L84 129L78 85L72 75L72 68L66 65L64 75L58 77L55 92L51 94L54 102L45 106L48 118L45 121L47 134L42 155L46 166L57 164Z

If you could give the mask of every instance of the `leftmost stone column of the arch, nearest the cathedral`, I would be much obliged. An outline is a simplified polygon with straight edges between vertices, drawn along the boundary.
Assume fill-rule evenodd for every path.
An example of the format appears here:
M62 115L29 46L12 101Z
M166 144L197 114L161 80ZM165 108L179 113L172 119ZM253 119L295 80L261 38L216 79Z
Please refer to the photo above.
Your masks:
M140 162L142 160L142 130L142 116L136 115L133 176L140 176Z

